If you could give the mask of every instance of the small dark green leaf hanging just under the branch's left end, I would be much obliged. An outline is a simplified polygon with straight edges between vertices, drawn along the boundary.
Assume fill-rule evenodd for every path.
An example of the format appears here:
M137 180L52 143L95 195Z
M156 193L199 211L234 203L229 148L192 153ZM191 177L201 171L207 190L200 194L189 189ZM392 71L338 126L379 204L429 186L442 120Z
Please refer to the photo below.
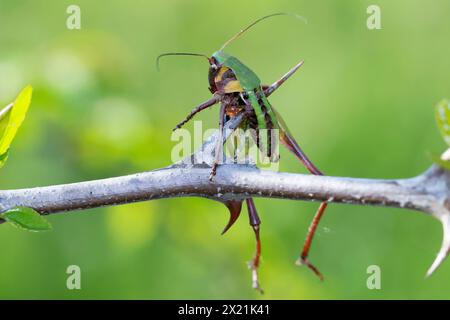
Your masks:
M28 207L15 207L0 214L0 217L14 226L28 231L47 231L51 224L36 210Z

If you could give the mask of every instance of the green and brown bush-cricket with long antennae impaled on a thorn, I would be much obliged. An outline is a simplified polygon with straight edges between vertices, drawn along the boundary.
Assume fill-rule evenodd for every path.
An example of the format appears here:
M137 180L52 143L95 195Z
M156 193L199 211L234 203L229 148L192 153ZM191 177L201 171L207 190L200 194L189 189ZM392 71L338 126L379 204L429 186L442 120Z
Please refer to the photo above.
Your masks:
M260 21L279 15L293 15L288 13L275 13L264 16L257 19L246 28L242 29L231 39L216 51L211 57L199 53L185 53L185 52L171 52L164 53L158 56L157 65L159 65L159 59L164 56L171 55L187 55L187 56L199 56L208 60L210 67L208 73L209 90L213 94L213 97L208 101L203 102L196 108L194 108L190 114L181 121L174 130L181 128L198 112L205 110L217 103L220 103L220 116L219 116L219 139L217 139L217 146L215 152L215 161L211 169L210 180L212 180L216 174L218 165L220 164L221 155L223 153L223 130L224 124L227 119L236 116L237 114L244 113L246 121L241 125L245 128L253 128L256 131L262 129L269 129L267 134L267 146L265 152L267 156L276 161L274 158L274 143L271 141L272 135L270 130L279 130L279 139L281 143L291 151L303 165L315 175L322 175L322 172L309 160L306 154L302 151L298 143L295 141L292 134L289 132L285 122L281 118L280 114L274 109L267 99L275 90L277 90L292 74L294 74L303 64L300 61L289 72L287 72L281 79L274 82L272 85L262 85L258 76L244 65L236 57L233 57L224 52L225 47L235 39L239 38L244 32L253 27ZM295 17L299 17L294 15ZM301 17L300 17L301 18ZM256 135L256 144L258 148L264 148L260 135ZM260 241L260 224L261 220L256 211L255 204L252 198L246 199L249 222L254 230L256 237L256 252L253 259L249 262L249 267L252 270L252 286L256 290L262 292L258 280L258 267L260 264L261 256L261 241ZM241 213L242 201L226 201L225 205L230 211L230 219L222 234L224 234L234 224ZM306 265L310 268L321 280L322 274L319 270L309 262L308 253L311 247L311 242L317 229L318 223L323 216L323 213L327 207L327 203L320 204L308 230L306 240L301 251L300 257L297 260L298 265Z

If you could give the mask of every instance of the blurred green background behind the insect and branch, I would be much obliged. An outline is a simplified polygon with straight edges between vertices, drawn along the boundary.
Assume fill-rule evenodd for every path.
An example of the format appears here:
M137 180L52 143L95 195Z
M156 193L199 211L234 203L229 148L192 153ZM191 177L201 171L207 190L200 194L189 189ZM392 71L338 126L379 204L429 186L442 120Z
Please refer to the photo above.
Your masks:
M210 54L257 17L277 17L228 51L264 82L305 65L271 101L329 175L402 178L445 145L434 105L450 95L450 3L376 1L382 30L368 30L373 1L87 1L68 30L73 1L0 1L0 105L26 85L34 97L0 188L98 179L170 164L171 129L209 97L207 64L162 52ZM197 119L215 127L218 108ZM187 126L192 129L192 124ZM305 172L286 151L281 170ZM311 260L321 283L294 265L317 204L257 199L261 281L269 299L450 298L450 262L425 280L441 226L412 211L332 205ZM260 298L246 261L254 249L245 215L225 236L225 207L180 198L50 218L54 230L0 226L0 298ZM82 289L66 289L66 268ZM366 269L379 265L381 290Z

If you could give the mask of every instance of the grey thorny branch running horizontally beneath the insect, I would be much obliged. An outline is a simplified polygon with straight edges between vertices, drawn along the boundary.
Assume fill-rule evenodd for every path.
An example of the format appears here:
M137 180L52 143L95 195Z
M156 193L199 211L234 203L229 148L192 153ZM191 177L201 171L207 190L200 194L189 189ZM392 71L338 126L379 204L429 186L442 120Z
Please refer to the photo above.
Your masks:
M237 127L242 117L227 124ZM228 130L227 132L229 132ZM79 183L0 191L0 211L31 207L41 214L173 197L217 201L248 197L327 201L422 211L441 221L441 250L427 272L431 275L450 248L450 172L433 165L409 179L358 179L259 170L250 165L223 164L208 179L217 135L191 157L172 166L127 176ZM196 164L192 165L192 161ZM0 221L1 223L2 221Z

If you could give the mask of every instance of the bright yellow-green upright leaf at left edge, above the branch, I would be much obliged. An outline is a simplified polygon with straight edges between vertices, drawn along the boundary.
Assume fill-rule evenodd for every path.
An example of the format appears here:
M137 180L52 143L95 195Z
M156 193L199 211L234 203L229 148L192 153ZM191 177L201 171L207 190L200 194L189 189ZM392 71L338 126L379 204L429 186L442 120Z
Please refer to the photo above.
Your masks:
M27 86L16 100L0 111L0 168L8 158L7 152L21 126L31 102L33 88Z

